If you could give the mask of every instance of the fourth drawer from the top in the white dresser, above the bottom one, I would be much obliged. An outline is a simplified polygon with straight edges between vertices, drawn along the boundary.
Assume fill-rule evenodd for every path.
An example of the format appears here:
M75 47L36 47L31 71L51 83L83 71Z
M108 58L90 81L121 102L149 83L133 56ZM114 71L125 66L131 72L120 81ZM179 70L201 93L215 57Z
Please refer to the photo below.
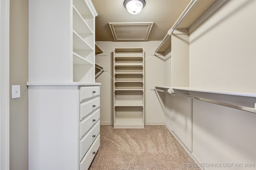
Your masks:
M81 139L80 141L80 160L84 157L93 141L100 133L100 121L98 121L94 127Z

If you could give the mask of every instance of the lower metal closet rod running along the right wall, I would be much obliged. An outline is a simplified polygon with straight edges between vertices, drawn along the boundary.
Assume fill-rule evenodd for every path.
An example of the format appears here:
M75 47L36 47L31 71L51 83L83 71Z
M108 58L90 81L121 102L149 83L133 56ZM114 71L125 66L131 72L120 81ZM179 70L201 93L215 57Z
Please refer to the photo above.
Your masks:
M152 89L151 89L152 90ZM226 106L226 107L232 107L234 109L240 109L240 110L244 110L244 111L249 111L252 113L256 113L256 108L253 107L247 107L247 106L240 106L237 104L231 104L231 103L226 103L226 102L220 102L220 101L216 101L216 100L210 100L210 99L206 99L206 98L200 98L200 97L196 97L196 96L191 96L191 95L187 95L187 94L180 94L180 93L175 93L175 92L168 92L166 90L159 90L154 88L153 90L159 91L159 92L164 92L164 93L168 93L171 95L177 95L177 96L182 96L182 97L187 97L187 98L191 98L191 99L196 99L196 100L200 100L203 102L208 102L208 103L212 103L212 104L218 104L221 106Z

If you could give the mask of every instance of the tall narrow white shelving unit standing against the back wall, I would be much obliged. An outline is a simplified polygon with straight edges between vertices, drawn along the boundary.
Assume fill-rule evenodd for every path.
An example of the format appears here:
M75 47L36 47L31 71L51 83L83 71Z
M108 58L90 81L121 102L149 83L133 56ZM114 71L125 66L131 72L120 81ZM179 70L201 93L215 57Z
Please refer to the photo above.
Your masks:
M144 128L144 48L114 48L114 128Z

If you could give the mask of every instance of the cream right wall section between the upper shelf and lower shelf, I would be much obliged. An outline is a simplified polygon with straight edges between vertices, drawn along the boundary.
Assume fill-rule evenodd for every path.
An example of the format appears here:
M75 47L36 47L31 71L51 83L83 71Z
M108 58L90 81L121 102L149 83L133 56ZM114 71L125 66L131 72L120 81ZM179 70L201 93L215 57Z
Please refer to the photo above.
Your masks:
M256 90L255 8L230 0L190 33L190 87Z

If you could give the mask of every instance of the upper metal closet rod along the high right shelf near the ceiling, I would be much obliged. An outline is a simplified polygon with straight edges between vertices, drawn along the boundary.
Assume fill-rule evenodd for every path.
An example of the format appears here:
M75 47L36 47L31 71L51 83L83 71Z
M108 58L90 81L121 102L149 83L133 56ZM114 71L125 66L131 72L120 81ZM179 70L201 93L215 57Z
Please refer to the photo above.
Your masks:
M192 7L194 6L194 4L196 4L197 0L191 0L190 4L188 5L187 8L184 10L184 12L182 13L182 15L180 16L181 18L178 18L178 20L174 23L174 25L172 26L171 29L169 29L169 31L167 32L166 36L164 37L164 39L162 40L162 42L160 43L160 45L158 45L154 55L157 53L157 51L162 47L162 45L165 43L165 41L170 37L170 35L172 35L172 33L175 31L175 29L178 27L178 25L180 24L180 22L185 18L185 16L188 14L188 12L192 9Z

